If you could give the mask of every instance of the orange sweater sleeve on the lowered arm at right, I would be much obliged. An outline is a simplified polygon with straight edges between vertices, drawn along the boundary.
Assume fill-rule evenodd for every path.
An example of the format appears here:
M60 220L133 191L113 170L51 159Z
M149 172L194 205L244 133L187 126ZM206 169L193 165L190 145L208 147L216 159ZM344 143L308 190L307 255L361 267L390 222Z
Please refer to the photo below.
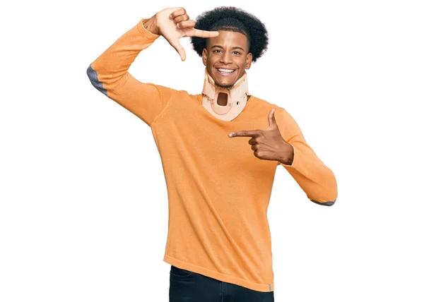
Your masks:
M307 144L298 123L288 111L281 107L276 108L276 121L280 121L278 128L281 136L293 146L294 150L291 165L281 162L278 164L285 167L312 202L319 205L333 205L338 195L333 171L326 167Z

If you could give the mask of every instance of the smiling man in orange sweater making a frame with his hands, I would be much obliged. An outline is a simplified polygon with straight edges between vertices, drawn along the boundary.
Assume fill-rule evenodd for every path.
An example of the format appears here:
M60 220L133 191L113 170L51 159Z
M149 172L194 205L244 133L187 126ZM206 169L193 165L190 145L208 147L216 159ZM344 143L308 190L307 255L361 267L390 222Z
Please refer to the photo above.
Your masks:
M206 66L201 93L141 83L128 73L160 36L183 61L179 39L192 37ZM278 164L314 203L336 201L333 172L293 117L249 94L245 70L267 43L264 25L239 8L219 7L196 22L184 8L166 8L88 67L91 83L139 116L155 138L169 198L163 260L171 265L170 301L273 301L266 211Z

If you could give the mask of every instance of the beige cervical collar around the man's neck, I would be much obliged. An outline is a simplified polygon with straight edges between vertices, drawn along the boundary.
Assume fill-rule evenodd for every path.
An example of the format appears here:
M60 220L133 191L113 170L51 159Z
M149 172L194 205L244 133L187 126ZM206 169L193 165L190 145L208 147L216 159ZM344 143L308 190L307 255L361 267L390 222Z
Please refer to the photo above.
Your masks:
M220 93L227 95L227 104L225 106L218 104ZM217 119L232 121L246 107L247 95L249 95L247 73L245 72L230 89L223 89L215 85L215 81L205 68L205 82L202 94L204 95L202 105L209 113Z

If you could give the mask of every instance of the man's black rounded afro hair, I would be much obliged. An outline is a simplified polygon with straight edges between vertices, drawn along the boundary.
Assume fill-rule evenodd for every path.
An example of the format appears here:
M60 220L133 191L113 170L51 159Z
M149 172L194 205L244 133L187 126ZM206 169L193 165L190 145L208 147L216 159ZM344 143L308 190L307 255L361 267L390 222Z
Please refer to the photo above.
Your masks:
M240 32L249 41L249 52L252 53L252 61L256 62L268 47L268 32L264 23L241 8L233 6L220 6L212 11L201 13L196 18L195 28L198 30L228 30ZM194 51L201 56L208 38L191 37Z

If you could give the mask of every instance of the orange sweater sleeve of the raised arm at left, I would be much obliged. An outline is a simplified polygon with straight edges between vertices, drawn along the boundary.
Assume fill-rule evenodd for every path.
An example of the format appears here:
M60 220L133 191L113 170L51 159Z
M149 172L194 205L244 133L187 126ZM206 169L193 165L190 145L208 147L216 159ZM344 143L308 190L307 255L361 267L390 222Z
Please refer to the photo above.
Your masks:
M160 37L144 28L147 20L141 19L95 59L87 75L97 90L151 126L177 90L141 83L128 72L136 56Z

